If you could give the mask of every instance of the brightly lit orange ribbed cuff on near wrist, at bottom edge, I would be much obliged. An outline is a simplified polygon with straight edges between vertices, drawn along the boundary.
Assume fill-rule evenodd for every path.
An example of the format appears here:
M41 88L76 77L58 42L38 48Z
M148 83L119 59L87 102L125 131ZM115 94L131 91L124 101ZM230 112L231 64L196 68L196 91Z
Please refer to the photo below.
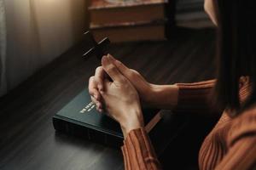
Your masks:
M154 148L143 128L132 130L127 134L122 146L125 170L159 170L160 162Z

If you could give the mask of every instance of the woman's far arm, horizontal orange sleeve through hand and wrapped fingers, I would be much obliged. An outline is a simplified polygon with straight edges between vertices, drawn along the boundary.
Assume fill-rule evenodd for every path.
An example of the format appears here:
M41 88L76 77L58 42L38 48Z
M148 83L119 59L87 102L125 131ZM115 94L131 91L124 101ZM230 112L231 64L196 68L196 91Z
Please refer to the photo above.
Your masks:
M136 88L142 105L149 108L173 109L176 112L209 112L212 105L209 96L215 81L177 83L174 85L155 85L147 82L143 76L126 67L119 60L108 55L109 59ZM98 92L103 88L102 80L106 73L102 66L96 69L95 77L90 78L89 92L96 103L97 110L102 112L102 96Z

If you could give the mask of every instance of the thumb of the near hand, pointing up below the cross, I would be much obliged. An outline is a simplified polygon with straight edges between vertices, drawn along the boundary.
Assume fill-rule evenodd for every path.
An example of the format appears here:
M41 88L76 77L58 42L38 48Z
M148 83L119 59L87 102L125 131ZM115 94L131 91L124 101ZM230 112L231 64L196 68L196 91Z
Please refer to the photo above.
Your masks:
M113 61L109 56L103 56L102 58L102 67L104 71L108 73L108 76L111 77L113 82L123 82L124 76L119 72L116 65L114 65Z

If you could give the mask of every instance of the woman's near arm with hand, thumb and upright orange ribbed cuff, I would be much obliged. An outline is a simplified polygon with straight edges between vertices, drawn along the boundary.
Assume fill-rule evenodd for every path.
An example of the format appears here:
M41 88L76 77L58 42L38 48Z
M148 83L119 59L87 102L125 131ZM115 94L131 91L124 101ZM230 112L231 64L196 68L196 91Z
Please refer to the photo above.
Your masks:
M102 79L103 87L99 93L108 116L119 122L122 128L125 137L122 147L125 169L160 169L160 163L143 128L143 113L137 90L119 72L109 56L102 58L102 68L111 77L111 81L109 78Z

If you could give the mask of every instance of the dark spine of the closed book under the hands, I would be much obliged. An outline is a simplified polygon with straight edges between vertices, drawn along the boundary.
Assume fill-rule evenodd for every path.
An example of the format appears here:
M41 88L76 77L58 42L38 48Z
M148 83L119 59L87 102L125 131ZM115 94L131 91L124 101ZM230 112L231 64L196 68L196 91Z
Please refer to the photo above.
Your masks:
M72 136L88 139L98 144L104 144L114 148L119 148L123 144L123 139L96 131L89 127L79 126L71 122L63 121L57 117L53 117L52 121L57 132L67 133Z

